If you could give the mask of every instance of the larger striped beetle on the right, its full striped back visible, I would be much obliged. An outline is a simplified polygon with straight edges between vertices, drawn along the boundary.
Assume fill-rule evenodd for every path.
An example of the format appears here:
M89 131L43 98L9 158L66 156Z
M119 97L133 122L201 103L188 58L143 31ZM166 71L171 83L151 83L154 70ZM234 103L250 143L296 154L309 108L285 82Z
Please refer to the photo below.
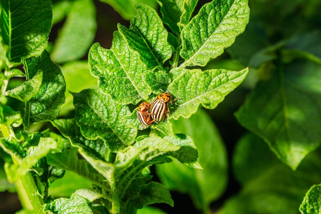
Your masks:
M176 101L175 99L174 101ZM164 92L159 94L150 105L151 117L154 121L159 122L163 119L166 120L167 114L169 114L169 105L172 103L172 94Z

